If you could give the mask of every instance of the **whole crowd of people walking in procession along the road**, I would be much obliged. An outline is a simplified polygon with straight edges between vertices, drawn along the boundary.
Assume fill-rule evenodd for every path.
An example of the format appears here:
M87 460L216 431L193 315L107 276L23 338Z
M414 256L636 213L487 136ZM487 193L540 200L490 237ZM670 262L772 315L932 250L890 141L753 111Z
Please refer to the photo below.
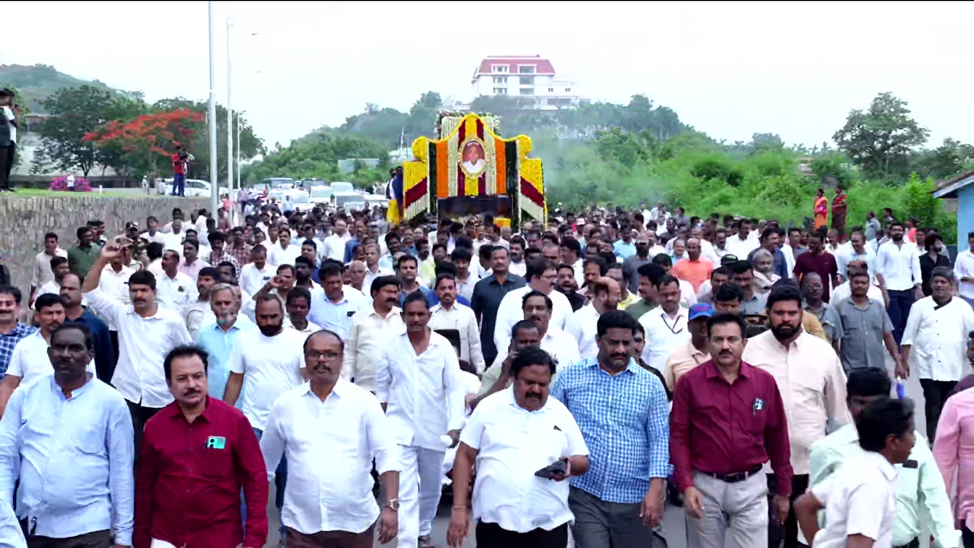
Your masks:
M974 547L974 233L244 201L0 287L0 546Z

